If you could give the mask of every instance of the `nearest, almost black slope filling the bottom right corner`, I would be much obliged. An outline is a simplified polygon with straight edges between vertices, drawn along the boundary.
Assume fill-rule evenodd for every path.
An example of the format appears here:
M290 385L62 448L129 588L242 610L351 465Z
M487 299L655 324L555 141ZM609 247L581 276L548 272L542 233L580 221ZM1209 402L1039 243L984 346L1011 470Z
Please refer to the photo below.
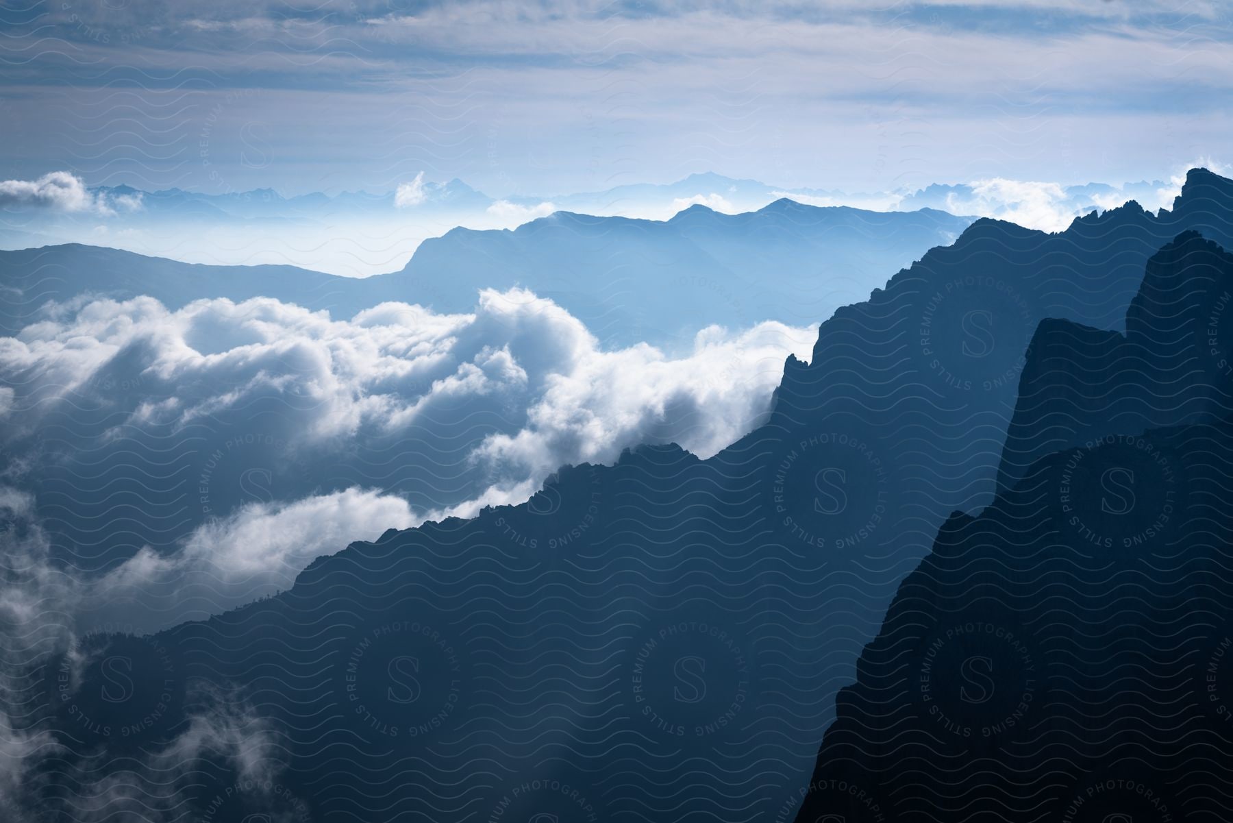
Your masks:
M1231 465L1231 421L1110 437L948 524L795 819L1229 819Z

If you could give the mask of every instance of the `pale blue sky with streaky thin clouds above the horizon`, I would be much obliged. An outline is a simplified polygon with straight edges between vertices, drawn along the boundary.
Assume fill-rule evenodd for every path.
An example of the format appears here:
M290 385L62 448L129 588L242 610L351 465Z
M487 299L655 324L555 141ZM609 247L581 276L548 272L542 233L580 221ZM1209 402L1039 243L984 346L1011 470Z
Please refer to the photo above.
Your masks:
M0 179L1121 183L1227 154L1233 5L16 0L0 64Z

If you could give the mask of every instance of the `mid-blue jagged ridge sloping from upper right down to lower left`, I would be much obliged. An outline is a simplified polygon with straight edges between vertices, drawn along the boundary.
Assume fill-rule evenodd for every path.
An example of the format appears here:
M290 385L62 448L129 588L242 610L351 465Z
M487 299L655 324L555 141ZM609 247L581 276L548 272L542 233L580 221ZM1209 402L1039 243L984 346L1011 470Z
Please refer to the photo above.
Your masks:
M131 642L174 674L127 737L80 721L101 674L62 690L49 661L47 791L163 750L231 690L285 769L213 819L792 817L899 582L949 512L993 500L1041 321L1120 331L1148 258L1187 230L1229 242L1231 206L1233 183L1192 172L1159 216L978 221L826 321L771 421L709 460L563 469L523 506L353 544L277 597ZM207 761L178 797L208 807L236 780Z

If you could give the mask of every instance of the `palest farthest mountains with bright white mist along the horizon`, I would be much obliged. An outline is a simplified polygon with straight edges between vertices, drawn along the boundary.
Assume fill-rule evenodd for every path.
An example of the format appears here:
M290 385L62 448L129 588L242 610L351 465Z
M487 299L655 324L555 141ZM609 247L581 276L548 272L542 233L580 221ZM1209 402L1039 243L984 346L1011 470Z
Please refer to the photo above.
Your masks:
M68 173L63 178L73 179ZM607 190L494 197L466 183L417 175L395 191L311 192L271 189L207 194L127 185L86 188L73 209L9 200L0 207L0 247L101 244L142 254L210 264L272 263L343 275L372 275L402 267L423 241L450 228L514 228L555 211L668 220L692 205L725 213L757 211L784 197L804 205L875 211L937 209L957 216L1010 220L1060 231L1074 216L1137 199L1150 210L1168 205L1174 183L1122 186L985 180L936 184L916 191L843 192L774 186L719 174L692 174L671 184L628 184Z

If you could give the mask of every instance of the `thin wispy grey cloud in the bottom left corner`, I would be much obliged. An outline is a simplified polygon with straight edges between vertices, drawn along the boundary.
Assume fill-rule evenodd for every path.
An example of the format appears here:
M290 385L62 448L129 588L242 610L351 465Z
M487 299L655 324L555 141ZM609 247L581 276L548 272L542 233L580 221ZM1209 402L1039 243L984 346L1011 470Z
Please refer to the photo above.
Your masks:
M85 651L75 624L97 596L95 582L51 561L32 495L0 486L0 806L5 819L33 823L58 812L79 823L180 819L184 792L201 779L203 759L227 767L237 782L265 786L280 770L268 723L237 693L192 690L184 730L159 746L110 760L48 726L57 711L42 666L49 656L68 666L63 681L80 689L89 660L111 640L95 635ZM96 623L89 623L97 626ZM72 692L63 692L69 695ZM41 791L74 785L64 802Z

